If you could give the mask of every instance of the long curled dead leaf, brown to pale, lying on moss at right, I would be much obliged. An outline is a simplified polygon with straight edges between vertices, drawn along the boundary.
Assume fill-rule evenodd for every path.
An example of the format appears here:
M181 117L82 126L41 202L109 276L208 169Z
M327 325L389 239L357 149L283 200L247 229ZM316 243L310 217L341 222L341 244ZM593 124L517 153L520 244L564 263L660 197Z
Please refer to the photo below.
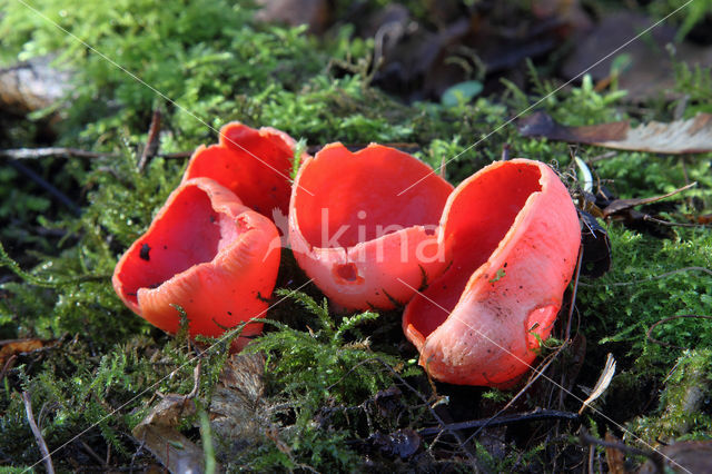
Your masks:
M632 128L629 121L566 127L545 112L535 112L517 124L523 137L545 137L619 150L656 154L702 154L712 151L712 115L698 113L669 124L651 121Z

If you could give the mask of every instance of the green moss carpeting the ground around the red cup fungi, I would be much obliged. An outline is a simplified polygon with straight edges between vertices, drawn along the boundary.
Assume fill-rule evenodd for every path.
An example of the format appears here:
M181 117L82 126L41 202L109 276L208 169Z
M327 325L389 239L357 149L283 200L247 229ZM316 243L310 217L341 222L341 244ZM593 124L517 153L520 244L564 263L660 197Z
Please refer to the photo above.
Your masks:
M446 174L454 184L498 159L505 144L512 156L538 159L566 171L570 146L521 138L508 124L531 106L566 125L629 118L620 107L623 93L615 88L599 92L585 78L581 87L556 91L558 85L540 79L533 68L533 86L526 92L510 83L503 97L477 98L451 108L403 105L369 87L367 58L373 42L352 38L349 26L319 42L306 36L304 28L255 24L251 8L231 1L85 3L49 0L42 3L42 12L98 50L111 52L111 59L175 103L157 98L155 91L21 3L0 0L2 61L56 52L58 65L77 73L71 107L61 112L59 142L116 154L90 162L69 159L34 165L33 169L81 205L80 217L63 211L34 185L22 181L17 170L0 166L0 218L12 223L0 229L0 237L19 261L16 265L6 258L1 264L0 338L60 340L53 348L19 356L4 378L0 458L11 460L14 466L30 466L39 460L22 391L31 393L33 406L44 407L41 427L51 448L89 428L82 440L102 453L110 445L115 463L121 466L131 463L137 446L129 433L147 413L146 402L154 392L191 391L196 354L202 361L199 403L209 406L227 343L196 352L185 335L170 337L152 329L123 307L109 279L118 256L145 231L185 166L185 161L156 158L144 171L137 169L136 150L146 140L155 108L165 112L164 151L214 142L215 130L209 127L217 129L238 119L250 126L280 128L301 139L303 146L336 140L352 145L415 142L421 147L416 155L434 168L449 161ZM343 7L338 2L337 9ZM416 16L424 12L421 6ZM706 110L710 88L704 71L680 67L678 73L678 88L691 93L689 111ZM669 112L651 108L645 119ZM32 134L18 130L14 127L6 134L8 146L29 145ZM584 159L603 151L577 148ZM695 189L669 199L661 213L671 220L710 213L710 155L680 158L622 151L593 166L602 182L622 198L666 192L695 180ZM575 188L572 178L567 181ZM653 440L680 435L676 429L684 422L688 436L701 437L710 428L709 407L688 414L679 407L684 387L709 385L709 371L703 368L710 355L702 348L712 345L710 325L680 318L656 327L657 340L698 347L689 353L662 347L646 332L676 314L711 314L708 288L712 277L684 268L712 268L712 236L709 229L674 228L669 238L661 239L622 223L605 225L613 268L601 279L582 278L578 288L580 330L589 342L582 373L597 373L599 356L613 352L619 375L611 389L643 397L650 386L662 386L676 364L665 382L660 408L632 426ZM39 235L38 228L59 229L61 235ZM280 278L281 286L296 286L290 282L301 280L303 275L290 258L283 258ZM414 366L413 348L402 344L398 314L343 316L318 303L323 296L316 289L310 289L310 296L293 295L288 289L280 294L290 298L270 310L266 334L250 350L267 355L266 396L288 407L273 418L285 445L266 435L249 453L228 455L229 468L348 471L362 466L364 456L355 446L370 434L433 425L429 405L413 394L403 395L403 416L397 419L368 412L374 394L394 384L403 387L400 377L406 374L416 376L414 385L429 393L427 379ZM502 404L511 394L490 391L483 397ZM609 397L607 403L614 402ZM596 419L587 424L595 427ZM532 440L508 444L504 457L484 445L477 450L484 464L495 471L547 465L551 452L560 446ZM435 443L429 455L446 458L452 454L448 467L463 466L459 453L438 451L441 446ZM69 457L58 455L57 465L72 470ZM390 460L384 463L389 465Z

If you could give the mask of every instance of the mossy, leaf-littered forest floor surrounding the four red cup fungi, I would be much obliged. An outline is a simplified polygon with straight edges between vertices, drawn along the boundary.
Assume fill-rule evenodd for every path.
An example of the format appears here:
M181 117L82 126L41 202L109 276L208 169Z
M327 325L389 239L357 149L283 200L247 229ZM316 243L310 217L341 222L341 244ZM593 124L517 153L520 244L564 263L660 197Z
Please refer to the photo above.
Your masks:
M0 0L2 468L712 471L712 2L257 3ZM555 169L583 245L534 369L431 379L288 249L240 354L131 313L118 259L235 120Z

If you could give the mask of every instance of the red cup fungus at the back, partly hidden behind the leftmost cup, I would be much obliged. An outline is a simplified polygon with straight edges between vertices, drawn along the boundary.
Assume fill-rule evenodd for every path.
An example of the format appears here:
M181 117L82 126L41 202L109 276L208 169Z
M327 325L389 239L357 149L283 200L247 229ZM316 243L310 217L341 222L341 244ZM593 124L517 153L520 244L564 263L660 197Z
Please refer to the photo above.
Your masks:
M284 131L270 127L256 130L234 121L220 129L218 145L196 149L182 179L214 179L239 196L245 206L269 218L275 209L287 216L295 146Z

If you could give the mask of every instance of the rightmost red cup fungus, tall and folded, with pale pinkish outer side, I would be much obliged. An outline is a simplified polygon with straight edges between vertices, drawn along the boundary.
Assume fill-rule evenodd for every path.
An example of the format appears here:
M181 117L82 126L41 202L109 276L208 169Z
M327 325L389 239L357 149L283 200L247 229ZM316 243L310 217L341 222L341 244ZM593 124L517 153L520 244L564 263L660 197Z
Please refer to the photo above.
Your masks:
M548 337L581 244L556 174L526 159L492 164L449 196L441 221L452 265L403 315L434 378L507 386Z

